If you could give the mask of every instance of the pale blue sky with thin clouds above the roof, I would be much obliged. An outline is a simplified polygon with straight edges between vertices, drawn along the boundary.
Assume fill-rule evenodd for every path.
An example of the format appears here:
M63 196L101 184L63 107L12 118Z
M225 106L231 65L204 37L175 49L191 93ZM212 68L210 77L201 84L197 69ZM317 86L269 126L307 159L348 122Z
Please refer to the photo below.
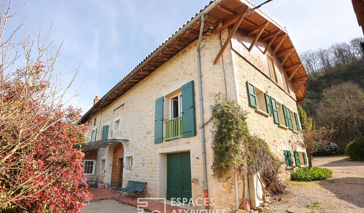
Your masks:
M260 4L265 0L253 0ZM13 8L22 1L16 0ZM154 51L209 0L31 0L18 17L28 12L24 28L44 33L53 23L50 40L64 45L58 60L73 70L82 63L68 96L79 85L82 94L71 100L86 113L96 95L100 98ZM273 0L263 6L286 26L299 52L327 47L363 36L351 1ZM10 22L11 24L12 22ZM20 32L22 34L22 32ZM64 77L64 82L70 76Z

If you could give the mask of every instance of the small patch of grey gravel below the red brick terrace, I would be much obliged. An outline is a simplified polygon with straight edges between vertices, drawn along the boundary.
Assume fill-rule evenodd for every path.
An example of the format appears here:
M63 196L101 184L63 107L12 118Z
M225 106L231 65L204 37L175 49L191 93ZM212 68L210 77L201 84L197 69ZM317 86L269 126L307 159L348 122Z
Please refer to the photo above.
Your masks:
M137 207L116 200L93 201L82 209L84 213L134 213ZM81 211L82 212L82 211Z

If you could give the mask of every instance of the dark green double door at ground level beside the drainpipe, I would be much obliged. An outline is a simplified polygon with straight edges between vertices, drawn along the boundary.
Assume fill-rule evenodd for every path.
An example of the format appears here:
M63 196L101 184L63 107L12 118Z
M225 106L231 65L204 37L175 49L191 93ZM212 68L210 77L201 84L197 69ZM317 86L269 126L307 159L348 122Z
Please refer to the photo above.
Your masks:
M167 200L192 198L190 152L167 154Z

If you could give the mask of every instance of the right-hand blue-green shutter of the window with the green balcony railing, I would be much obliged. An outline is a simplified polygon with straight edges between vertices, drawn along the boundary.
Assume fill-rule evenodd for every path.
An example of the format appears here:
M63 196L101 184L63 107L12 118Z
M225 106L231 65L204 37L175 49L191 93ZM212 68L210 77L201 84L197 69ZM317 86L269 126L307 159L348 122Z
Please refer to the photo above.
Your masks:
M182 86L182 128L183 138L196 135L193 80Z

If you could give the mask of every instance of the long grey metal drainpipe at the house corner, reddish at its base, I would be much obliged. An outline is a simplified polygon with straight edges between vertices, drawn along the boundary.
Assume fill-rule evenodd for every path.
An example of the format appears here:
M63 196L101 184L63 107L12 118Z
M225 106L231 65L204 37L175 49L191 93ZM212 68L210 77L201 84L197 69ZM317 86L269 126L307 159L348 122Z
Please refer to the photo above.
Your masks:
M202 165L203 165L203 192L205 194L205 209L209 209L209 190L207 189L207 170L206 170L206 148L205 148L205 131L203 129L203 104L202 104L202 86L201 86L201 62L200 62L200 45L203 33L205 16L201 15L201 28L197 43L197 73L198 73L198 93L200 100L200 118L201 118L201 142L202 142Z

